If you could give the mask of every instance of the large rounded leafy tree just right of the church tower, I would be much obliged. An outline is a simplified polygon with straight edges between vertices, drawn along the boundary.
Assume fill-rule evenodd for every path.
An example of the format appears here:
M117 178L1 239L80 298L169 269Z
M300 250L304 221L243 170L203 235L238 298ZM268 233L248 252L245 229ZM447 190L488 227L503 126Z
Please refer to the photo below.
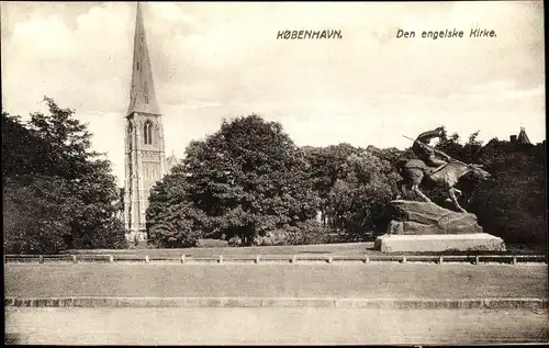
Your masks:
M177 175L153 190L149 228L155 236L165 231L179 245L197 235L237 236L250 245L269 231L314 216L306 169L303 153L279 123L258 115L224 121L219 132L191 143ZM170 193L173 187L180 195ZM173 211L163 214L161 206ZM194 237L184 237L190 233Z

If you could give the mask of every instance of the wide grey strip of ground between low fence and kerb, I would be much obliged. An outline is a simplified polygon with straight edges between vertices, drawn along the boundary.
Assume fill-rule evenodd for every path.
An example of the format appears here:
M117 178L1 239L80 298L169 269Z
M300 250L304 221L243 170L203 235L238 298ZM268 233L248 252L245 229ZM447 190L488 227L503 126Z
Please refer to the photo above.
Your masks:
M4 295L547 299L547 265L4 265Z

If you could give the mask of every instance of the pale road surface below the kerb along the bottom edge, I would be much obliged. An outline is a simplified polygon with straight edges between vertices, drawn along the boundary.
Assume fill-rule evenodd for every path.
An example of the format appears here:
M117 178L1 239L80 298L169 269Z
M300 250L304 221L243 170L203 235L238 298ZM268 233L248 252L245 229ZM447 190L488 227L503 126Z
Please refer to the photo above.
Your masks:
M9 344L547 343L547 310L5 308Z

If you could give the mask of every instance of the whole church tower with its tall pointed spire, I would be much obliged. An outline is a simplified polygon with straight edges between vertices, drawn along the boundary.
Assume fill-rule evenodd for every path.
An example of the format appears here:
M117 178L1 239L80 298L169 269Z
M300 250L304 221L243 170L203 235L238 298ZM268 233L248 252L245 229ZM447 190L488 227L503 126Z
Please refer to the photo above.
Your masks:
M130 240L146 240L145 211L149 190L165 172L163 116L155 94L142 8L137 3L125 130L124 223Z

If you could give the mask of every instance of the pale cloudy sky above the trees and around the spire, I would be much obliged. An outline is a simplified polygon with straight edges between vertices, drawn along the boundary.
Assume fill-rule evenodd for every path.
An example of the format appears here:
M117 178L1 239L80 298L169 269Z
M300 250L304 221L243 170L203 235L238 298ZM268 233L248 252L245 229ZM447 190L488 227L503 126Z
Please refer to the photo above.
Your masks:
M542 1L425 3L158 2L143 7L167 155L223 117L253 112L298 145L404 148L445 125L462 137L545 134ZM2 108L27 115L43 96L76 109L93 146L124 176L135 4L2 2ZM470 38L471 27L496 37ZM276 40L281 30L341 40ZM397 29L416 38L396 38ZM463 38L421 38L462 30Z

